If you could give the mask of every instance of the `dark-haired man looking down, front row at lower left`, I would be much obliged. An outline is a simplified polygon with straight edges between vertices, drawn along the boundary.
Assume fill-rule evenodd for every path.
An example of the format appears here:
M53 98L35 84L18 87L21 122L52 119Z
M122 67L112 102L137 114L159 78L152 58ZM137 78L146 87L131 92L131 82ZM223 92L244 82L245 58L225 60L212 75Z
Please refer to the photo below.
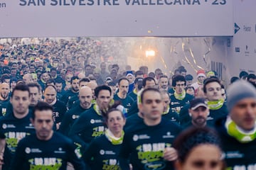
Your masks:
M58 132L53 132L53 108L39 102L31 122L36 134L18 142L11 169L67 169L67 162L75 169L85 169L85 164L75 150L73 142Z

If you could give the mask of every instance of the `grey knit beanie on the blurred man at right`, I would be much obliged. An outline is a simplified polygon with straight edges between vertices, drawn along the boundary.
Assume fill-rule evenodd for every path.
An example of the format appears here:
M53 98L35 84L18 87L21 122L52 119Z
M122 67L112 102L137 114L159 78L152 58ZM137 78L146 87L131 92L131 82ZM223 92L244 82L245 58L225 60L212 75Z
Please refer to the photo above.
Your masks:
M255 98L256 100L256 89L247 81L235 81L228 87L227 98L228 111L230 112L235 104L242 99Z

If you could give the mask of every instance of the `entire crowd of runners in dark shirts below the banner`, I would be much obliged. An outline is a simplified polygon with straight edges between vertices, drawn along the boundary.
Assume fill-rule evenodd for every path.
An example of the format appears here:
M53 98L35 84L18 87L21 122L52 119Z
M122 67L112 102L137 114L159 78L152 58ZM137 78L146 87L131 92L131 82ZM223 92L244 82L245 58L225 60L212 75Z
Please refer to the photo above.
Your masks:
M0 50L0 169L256 169L255 74L120 69L90 38Z

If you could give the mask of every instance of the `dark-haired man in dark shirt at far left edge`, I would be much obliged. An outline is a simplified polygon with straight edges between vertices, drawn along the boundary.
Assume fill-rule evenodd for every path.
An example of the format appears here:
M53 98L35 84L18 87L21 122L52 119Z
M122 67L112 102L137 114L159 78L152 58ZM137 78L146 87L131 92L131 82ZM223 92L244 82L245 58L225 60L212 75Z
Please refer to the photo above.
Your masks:
M6 144L12 154L16 151L19 140L35 132L30 122L29 98L28 86L17 85L10 100L13 111L0 119L0 131L6 135Z

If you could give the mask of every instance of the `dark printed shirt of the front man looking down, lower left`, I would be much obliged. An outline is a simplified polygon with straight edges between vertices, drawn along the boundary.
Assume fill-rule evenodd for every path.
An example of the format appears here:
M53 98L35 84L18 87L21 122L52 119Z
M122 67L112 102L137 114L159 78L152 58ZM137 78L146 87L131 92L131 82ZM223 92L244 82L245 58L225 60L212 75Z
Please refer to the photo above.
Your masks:
M38 140L36 135L18 143L11 169L67 169L67 162L75 169L85 169L73 142L58 132L50 140Z

